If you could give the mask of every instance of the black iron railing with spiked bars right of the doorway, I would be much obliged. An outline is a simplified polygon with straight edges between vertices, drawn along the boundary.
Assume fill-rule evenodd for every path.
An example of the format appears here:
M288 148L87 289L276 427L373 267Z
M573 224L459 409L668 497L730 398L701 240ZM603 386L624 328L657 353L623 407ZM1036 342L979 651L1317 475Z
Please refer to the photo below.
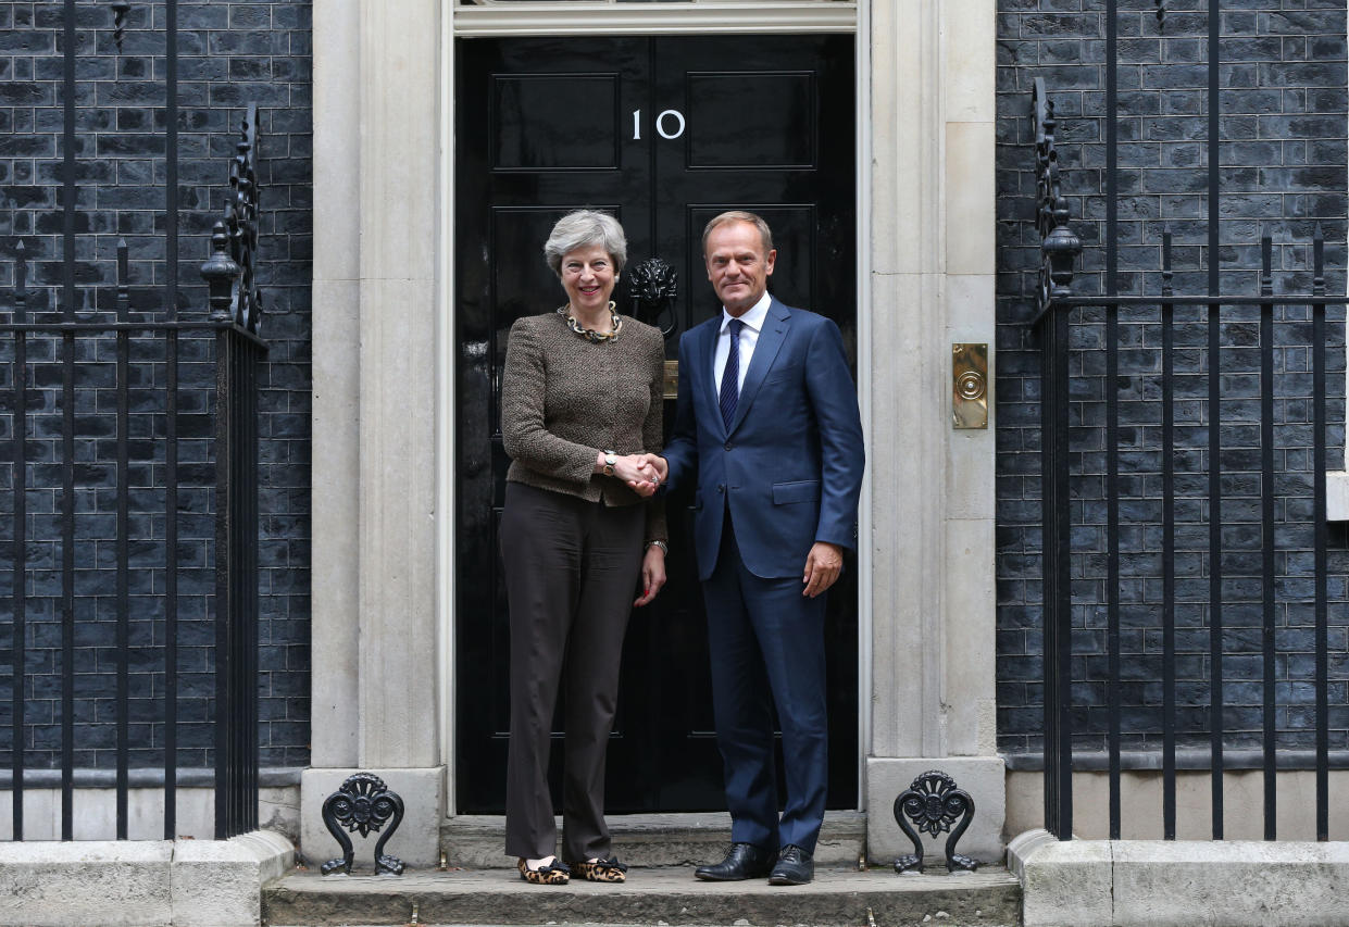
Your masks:
M1329 769L1349 756L1329 749L1326 371L1337 341L1326 322L1344 300L1326 294L1322 229L1303 243L1311 293L1275 294L1267 231L1259 291L1219 294L1211 157L1209 291L1174 291L1163 231L1160 291L1118 294L1108 119L1106 291L1074 294L1082 244L1068 228L1040 81L1035 119L1045 827L1071 838L1072 772L1089 765L1075 760L1103 745L1112 838L1129 766L1160 769L1167 839L1176 837L1178 768L1209 770L1214 839L1224 837L1226 769L1263 770L1264 837L1275 839L1278 770L1310 768L1317 838L1329 839ZM1102 694L1105 718L1083 690Z

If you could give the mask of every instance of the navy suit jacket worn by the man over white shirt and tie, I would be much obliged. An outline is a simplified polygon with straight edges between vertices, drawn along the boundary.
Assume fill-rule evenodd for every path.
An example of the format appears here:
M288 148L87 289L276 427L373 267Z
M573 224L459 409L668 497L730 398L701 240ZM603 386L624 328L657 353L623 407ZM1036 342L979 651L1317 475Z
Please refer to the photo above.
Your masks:
M831 320L772 300L727 428L712 367L720 327L718 313L680 339L668 484L696 480L700 579L716 567L727 506L751 573L801 576L816 541L857 546L865 449L843 337Z

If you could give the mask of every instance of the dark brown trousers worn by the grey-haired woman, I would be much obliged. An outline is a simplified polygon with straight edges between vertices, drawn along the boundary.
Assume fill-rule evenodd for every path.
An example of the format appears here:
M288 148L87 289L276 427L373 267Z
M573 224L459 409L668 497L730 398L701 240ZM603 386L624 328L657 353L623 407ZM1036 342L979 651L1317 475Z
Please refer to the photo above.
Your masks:
M610 855L604 754L618 700L627 617L637 598L645 506L606 506L506 484L502 559L510 605L506 855L553 854L549 734L558 685L567 708L563 858Z

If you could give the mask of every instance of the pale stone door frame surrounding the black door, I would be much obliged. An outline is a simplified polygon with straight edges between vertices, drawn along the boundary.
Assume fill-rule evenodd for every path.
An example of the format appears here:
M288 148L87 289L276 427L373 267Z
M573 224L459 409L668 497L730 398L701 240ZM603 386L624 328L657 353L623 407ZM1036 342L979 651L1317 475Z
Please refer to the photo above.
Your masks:
M402 785L409 820L438 822L453 795L452 483L438 466L453 460L444 309L453 273L452 39L460 20L503 28L525 9L316 3L306 833L317 820L310 804L348 769ZM951 343L994 341L994 0L529 4L530 15L573 16L577 28L608 22L629 31L641 16L650 30L689 31L704 13L730 31L822 31L811 16L849 9L870 457L859 525L861 795L863 807L867 796L881 807L896 783L948 768L979 802L967 845L1000 850L993 430L992 421L986 432L950 425ZM878 855L901 845L886 816L869 824ZM409 862L436 861L434 830L407 834Z

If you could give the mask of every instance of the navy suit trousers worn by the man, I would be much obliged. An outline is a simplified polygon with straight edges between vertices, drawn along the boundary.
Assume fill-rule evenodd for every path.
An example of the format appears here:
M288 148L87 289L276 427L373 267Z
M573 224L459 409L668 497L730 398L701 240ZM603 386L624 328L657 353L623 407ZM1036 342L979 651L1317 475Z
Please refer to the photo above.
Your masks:
M726 765L731 841L815 853L828 783L824 595L800 576L764 579L741 560L730 513L703 582L716 743ZM786 806L777 815L773 717L782 725Z

